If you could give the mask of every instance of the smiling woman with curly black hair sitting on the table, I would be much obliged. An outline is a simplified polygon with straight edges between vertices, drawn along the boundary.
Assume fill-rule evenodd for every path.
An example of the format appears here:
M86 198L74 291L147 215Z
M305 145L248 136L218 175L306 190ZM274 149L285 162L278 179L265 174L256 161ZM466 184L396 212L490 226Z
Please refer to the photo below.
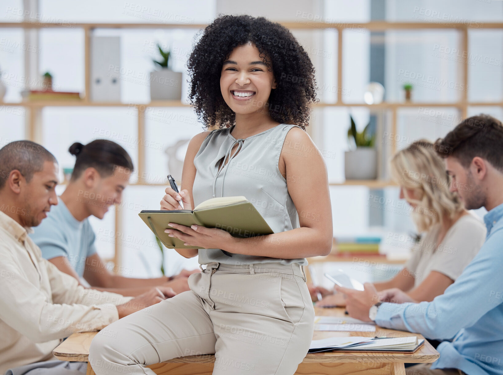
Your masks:
M190 275L189 291L96 335L90 363L100 363L97 373L153 375L147 365L215 354L213 374L292 375L314 329L306 258L328 255L333 241L326 165L305 131L313 65L283 26L221 16L188 66L192 105L214 129L192 137L182 189L167 187L160 209L212 198L228 207L196 211L218 223L208 227L166 219L164 243L198 256L202 272Z

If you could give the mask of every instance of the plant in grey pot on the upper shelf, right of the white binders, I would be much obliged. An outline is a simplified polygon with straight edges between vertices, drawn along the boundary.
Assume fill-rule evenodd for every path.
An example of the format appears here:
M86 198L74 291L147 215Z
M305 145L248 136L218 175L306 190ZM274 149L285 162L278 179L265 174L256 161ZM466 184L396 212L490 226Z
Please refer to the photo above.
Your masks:
M150 73L150 100L182 100L182 73L169 68L171 51L163 51L157 43L162 59L153 60L160 70Z

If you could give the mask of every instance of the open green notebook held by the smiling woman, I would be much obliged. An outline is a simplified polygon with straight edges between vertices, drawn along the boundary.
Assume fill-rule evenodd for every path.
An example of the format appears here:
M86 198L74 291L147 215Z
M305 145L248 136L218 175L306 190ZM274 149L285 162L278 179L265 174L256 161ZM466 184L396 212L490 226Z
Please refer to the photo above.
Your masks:
M196 224L207 228L219 228L239 238L274 233L254 205L243 196L208 199L197 205L194 211L143 210L138 215L164 246L170 249L198 249L199 247L185 246L184 241L164 233L165 229L171 228L167 226L168 223L182 224L187 227Z

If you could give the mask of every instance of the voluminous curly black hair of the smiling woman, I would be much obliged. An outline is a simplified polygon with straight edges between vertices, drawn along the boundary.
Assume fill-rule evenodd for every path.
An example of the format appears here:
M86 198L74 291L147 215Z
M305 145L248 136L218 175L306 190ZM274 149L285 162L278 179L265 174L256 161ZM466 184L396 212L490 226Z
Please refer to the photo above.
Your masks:
M305 130L309 125L310 102L319 102L315 99L312 62L286 27L265 17L248 15L216 18L204 29L189 56L189 98L198 118L206 129L217 124L219 128L234 125L235 113L227 106L220 91L220 74L223 61L232 50L248 42L259 49L261 56L269 57L273 65L277 88L271 91L268 103L272 119ZM264 62L268 64L266 57Z

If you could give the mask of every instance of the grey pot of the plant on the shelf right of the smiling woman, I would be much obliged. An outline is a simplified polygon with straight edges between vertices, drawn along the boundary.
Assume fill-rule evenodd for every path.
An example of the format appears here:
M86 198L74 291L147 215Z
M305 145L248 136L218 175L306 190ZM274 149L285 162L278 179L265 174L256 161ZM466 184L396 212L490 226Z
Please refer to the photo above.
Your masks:
M373 147L357 147L344 154L346 179L377 178L377 150Z

